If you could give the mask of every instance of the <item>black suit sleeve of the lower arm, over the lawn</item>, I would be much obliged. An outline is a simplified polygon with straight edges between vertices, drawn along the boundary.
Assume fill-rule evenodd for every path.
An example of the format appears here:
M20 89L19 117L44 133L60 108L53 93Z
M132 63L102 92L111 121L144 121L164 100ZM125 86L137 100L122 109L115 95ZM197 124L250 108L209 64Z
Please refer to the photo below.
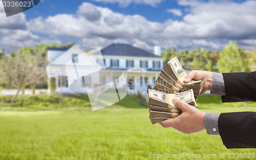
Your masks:
M218 126L226 148L256 148L256 112L221 113Z

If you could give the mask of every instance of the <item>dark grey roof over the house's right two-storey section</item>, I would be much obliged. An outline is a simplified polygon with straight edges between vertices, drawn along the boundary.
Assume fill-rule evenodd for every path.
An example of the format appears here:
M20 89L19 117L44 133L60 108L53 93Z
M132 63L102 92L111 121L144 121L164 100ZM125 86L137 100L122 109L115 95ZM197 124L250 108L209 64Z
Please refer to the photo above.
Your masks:
M153 53L134 47L130 44L111 44L101 50L102 56L131 56L162 58Z

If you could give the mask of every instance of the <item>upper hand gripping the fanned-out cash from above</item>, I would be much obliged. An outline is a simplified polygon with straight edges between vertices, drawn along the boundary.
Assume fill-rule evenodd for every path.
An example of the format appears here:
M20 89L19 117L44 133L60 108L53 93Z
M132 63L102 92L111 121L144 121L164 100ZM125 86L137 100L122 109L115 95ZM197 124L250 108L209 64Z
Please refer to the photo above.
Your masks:
M206 79L206 82L204 84L204 87L203 87L200 95L204 94L207 90L212 91L212 72L193 70L189 74L186 75L183 82L188 83L191 81L191 79L193 79L193 80Z

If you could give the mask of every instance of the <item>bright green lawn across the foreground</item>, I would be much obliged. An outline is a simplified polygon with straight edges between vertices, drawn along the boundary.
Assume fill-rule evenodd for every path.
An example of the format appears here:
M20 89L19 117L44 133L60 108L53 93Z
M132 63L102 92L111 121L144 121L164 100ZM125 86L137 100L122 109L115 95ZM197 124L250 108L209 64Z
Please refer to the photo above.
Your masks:
M255 106L219 104L216 107L205 104L199 109L209 112L256 111ZM0 159L5 160L150 159L148 153L216 154L219 157L219 153L227 156L230 152L256 152L255 149L227 150L220 136L207 135L205 130L187 135L159 124L152 125L146 108L1 111L0 122Z

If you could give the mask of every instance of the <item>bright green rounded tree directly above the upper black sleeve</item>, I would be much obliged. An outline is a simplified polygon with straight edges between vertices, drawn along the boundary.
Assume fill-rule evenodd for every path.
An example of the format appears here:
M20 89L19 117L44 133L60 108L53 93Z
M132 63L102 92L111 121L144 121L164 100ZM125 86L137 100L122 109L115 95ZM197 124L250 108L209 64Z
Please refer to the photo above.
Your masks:
M249 72L248 59L237 42L230 41L220 53L217 62L219 72Z

